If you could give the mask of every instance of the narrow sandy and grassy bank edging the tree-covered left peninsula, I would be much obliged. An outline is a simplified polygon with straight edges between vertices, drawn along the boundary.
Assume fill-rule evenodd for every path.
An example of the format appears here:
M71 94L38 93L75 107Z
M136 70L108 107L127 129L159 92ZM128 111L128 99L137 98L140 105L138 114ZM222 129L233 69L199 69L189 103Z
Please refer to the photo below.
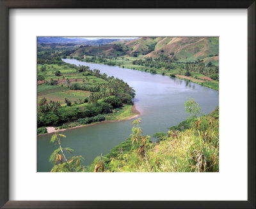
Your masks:
M136 119L136 117L139 117L139 116L140 116L140 112L138 112L135 105L124 105L124 107L120 109L119 108L115 109L113 113L105 114L104 117L106 120L104 121L93 122L91 124L85 124L85 125L81 125L79 124L79 122L73 121L73 122L62 124L61 126L46 127L47 133L38 134L38 136L55 133L58 131L67 131L70 129L77 129L79 127L94 126L94 125L106 123L106 122L132 120L132 119Z

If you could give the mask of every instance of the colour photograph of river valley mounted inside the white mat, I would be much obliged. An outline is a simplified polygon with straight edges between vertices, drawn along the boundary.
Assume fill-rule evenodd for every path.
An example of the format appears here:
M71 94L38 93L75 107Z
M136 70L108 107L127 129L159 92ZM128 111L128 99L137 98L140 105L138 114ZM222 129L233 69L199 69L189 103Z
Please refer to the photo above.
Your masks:
M220 171L218 36L36 41L37 172Z

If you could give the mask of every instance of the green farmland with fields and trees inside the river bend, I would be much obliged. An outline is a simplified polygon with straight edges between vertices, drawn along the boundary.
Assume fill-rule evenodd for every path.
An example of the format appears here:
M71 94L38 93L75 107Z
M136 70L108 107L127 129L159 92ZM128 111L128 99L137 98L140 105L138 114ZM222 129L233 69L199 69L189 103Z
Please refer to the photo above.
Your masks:
M49 55L44 59L46 64L38 64L38 134L49 126L60 130L138 115L132 112L135 91L123 80Z

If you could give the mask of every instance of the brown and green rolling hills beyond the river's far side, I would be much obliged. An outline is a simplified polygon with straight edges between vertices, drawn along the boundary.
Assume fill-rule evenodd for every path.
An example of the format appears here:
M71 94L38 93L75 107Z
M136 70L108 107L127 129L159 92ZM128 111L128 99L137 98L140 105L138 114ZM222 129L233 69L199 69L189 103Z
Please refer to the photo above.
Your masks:
M107 40L97 40L107 43ZM112 42L110 42L112 41ZM88 42L89 43L89 42ZM92 42L96 43L96 42ZM208 58L208 61L218 61L218 37L143 37L135 40L109 40L108 44L92 44L78 48L72 53L80 55L138 55L144 57L159 57L161 54L177 57L180 61L195 61Z

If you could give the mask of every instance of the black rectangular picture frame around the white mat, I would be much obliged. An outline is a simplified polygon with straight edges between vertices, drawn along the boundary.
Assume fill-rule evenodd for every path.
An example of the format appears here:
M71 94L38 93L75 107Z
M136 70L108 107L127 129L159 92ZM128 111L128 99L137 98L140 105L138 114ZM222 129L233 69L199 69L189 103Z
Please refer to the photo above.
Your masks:
M8 11L10 8L246 8L248 10L248 201L9 201ZM0 0L0 71L1 207L255 208L255 0Z

